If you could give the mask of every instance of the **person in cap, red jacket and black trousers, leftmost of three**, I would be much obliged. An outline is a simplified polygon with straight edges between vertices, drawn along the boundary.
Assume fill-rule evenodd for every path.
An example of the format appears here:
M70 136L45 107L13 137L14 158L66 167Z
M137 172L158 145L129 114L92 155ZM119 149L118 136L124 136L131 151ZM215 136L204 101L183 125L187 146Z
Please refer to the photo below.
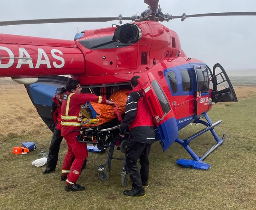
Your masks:
M49 153L47 156L46 169L43 170L43 174L48 174L55 171L58 162L58 153L60 151L60 143L63 137L60 134L61 128L61 114L60 108L64 93L67 92L65 87L58 87L55 96L52 98L52 124L49 126L52 130L52 140L49 147Z

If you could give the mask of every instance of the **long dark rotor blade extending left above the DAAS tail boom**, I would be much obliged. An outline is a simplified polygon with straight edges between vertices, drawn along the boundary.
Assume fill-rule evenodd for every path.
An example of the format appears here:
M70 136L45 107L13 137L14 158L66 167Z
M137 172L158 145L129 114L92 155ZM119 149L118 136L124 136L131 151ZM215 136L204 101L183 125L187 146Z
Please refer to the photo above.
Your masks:
M44 23L69 23L69 22L108 22L112 20L132 20L132 17L103 17L103 18L55 18L37 20L12 20L0 21L0 26L25 25L25 24L44 24Z

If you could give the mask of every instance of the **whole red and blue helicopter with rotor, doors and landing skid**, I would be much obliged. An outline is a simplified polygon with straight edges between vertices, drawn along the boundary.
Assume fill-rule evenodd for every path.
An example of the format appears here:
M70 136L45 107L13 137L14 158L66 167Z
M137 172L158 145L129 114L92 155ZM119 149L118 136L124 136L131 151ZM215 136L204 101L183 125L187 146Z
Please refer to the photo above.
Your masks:
M255 16L256 12L226 12L172 16L162 13L158 0L144 0L148 9L131 17L63 18L17 20L0 22L0 26L61 22L107 22L131 20L123 25L84 30L74 40L59 40L0 34L0 77L11 77L24 84L33 104L46 124L50 123L51 98L57 86L65 86L70 75L80 81L84 92L107 98L114 90L130 88L130 80L139 75L139 83L152 111L163 151L174 142L181 144L192 160L179 159L177 163L196 169L208 169L203 160L225 138L219 138L207 112L217 102L237 101L234 88L220 64L211 70L204 62L188 58L181 48L176 32L160 22L172 19L184 21L203 16ZM182 140L178 132L190 123L205 126L199 132ZM83 130L84 136L96 136L99 146L116 140L118 123ZM189 147L190 142L210 131L216 144L204 155L198 156ZM85 135L86 134L86 135ZM106 137L109 141L105 141ZM83 139L90 142L88 139ZM102 143L103 141L103 143ZM101 179L107 179L104 166L110 164L114 143L110 146L108 162L100 165ZM103 174L103 175L102 175ZM125 177L123 171L122 176ZM103 178L102 178L103 177ZM125 179L124 179L125 180ZM123 184L123 182L122 182ZM125 184L125 182L124 182ZM123 185L124 185L123 184Z

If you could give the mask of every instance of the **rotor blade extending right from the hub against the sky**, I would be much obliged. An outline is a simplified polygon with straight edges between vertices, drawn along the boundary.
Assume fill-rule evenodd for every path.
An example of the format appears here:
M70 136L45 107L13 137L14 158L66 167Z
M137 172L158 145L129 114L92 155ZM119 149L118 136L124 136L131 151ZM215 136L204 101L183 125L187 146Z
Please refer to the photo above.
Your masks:
M195 18L195 17L209 17L209 16L253 16L253 15L256 15L256 12L218 12L218 13L205 13L205 14L192 14L192 15L182 14L181 16L172 16L172 19L184 18L184 17Z

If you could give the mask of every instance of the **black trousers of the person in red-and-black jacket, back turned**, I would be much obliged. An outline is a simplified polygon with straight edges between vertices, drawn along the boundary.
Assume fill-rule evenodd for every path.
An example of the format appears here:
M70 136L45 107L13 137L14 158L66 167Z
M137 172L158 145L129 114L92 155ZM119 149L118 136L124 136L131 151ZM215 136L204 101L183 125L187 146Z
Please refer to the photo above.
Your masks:
M134 193L142 190L142 182L148 181L149 161L151 144L129 142L126 149L126 172L130 174L132 189ZM140 171L137 166L140 158Z

